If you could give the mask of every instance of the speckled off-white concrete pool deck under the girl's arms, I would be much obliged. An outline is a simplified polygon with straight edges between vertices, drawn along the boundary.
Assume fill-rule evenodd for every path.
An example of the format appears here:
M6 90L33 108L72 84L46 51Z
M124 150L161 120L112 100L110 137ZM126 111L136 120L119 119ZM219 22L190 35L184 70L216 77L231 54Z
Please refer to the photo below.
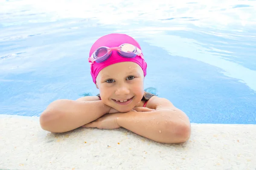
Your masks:
M0 169L256 170L256 125L192 123L183 144L161 144L125 129L41 129L39 117L0 115Z

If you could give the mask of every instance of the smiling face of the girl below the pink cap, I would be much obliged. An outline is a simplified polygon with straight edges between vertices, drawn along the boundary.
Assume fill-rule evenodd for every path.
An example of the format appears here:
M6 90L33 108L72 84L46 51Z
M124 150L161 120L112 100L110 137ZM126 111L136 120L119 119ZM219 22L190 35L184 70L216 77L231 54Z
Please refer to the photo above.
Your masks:
M143 70L135 62L109 65L99 72L96 87L105 105L119 112L131 111L143 98Z

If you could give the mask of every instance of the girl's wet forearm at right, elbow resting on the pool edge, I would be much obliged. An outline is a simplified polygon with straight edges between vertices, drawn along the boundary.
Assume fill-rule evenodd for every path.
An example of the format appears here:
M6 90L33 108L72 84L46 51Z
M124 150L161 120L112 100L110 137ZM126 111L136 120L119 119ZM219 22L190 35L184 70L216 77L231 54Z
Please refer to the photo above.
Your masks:
M140 136L163 143L186 142L191 133L185 113L171 110L120 113L117 123Z

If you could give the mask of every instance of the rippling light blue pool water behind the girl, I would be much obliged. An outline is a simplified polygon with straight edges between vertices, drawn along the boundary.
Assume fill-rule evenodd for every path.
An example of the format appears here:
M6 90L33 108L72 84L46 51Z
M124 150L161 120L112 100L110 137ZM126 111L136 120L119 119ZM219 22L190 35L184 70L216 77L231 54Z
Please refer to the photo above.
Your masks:
M0 0L0 114L96 95L87 57L113 32L140 42L145 88L191 122L256 124L255 0Z

